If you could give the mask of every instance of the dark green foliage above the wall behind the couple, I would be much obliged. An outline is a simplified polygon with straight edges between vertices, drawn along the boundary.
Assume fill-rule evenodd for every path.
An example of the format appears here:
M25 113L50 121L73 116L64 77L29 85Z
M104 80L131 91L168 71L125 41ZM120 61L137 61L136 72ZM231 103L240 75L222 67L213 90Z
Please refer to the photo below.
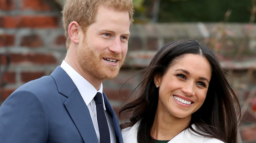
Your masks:
M160 1L158 22L228 22L248 23L252 0L134 0L135 21L147 23L152 18L154 2Z

